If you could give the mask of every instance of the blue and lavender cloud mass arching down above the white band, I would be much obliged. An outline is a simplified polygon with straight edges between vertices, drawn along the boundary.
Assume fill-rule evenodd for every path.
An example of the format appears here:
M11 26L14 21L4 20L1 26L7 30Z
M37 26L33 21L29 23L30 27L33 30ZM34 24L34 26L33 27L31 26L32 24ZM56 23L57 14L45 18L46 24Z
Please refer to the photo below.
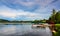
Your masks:
M10 8L22 9L25 11L35 11L39 7L44 8L53 1L54 0L0 0L2 4Z

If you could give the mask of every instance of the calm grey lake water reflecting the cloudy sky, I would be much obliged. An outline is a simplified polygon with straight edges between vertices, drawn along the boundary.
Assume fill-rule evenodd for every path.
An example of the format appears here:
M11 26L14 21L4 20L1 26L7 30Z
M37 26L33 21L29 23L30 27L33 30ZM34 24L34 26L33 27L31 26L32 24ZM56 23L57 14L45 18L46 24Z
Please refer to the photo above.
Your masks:
M49 27L32 28L31 23L0 25L0 36L52 36Z

